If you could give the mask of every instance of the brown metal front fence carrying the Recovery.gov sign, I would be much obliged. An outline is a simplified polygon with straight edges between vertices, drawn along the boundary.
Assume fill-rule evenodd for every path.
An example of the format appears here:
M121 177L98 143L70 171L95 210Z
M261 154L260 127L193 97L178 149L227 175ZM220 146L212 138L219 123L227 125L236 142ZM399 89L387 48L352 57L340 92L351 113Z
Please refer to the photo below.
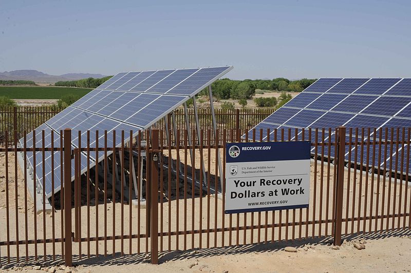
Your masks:
M105 132L96 145L90 145L90 139L99 139L98 132L87 132L86 147L74 150L67 130L64 143L63 132L54 135L60 139L59 147L0 148L5 163L0 180L0 200L5 204L0 216L6 220L0 226L0 263L42 258L65 259L71 264L72 258L132 253L150 253L152 262L157 263L159 252L176 249L329 237L340 244L341 237L352 234L409 229L410 128L340 127L335 134L333 131L254 131L241 140L260 141L263 136L267 141L308 140L313 157L309 208L236 214L225 214L225 181L220 186L218 179L225 177L225 166L220 173L218 156L225 162L225 144L240 141L241 130L217 131L213 142L211 129L198 134L178 131L176 135L172 130L154 129L151 135L140 133L133 145L126 145L132 132ZM175 139L175 145L167 144L167 135ZM189 145L189 137L193 145ZM388 140L380 141L384 138ZM144 147L142 140L149 145ZM119 143L120 147L107 143ZM54 209L47 213L36 213L36 201L27 193L27 169L22 173L15 161L18 152L26 158L33 150L42 153L42 159L51 151L57 162L64 163L64 171L57 173L64 181L64 191L53 193L50 202ZM332 150L337 151L335 157ZM86 164L81 175L81 153L103 156L104 161L95 167ZM146 161L139 156L143 153ZM368 162L371 164L365 164ZM44 171L37 172L44 181ZM48 175L54 178L53 171ZM133 201L136 189L143 199ZM214 189L220 193L215 194ZM44 191L40 194L44 210Z

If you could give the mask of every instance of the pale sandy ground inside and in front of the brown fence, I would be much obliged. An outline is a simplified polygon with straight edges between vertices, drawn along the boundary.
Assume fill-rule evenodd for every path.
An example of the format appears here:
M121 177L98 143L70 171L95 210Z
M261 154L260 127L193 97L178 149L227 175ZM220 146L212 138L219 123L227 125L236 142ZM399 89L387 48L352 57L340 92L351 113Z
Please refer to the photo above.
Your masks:
M222 152L222 151L221 151ZM173 158L176 157L176 152L173 151ZM165 152L166 154L166 152ZM210 173L215 173L215 150L211 149L210 157ZM190 166L190 156L184 157L184 150L180 151L180 159L182 163L191 169ZM196 152L196 168L199 168L200 157L198 151ZM208 166L208 156L207 153L203 154L203 160ZM311 164L311 186L310 186L310 210L308 220L313 219L313 211L315 210L315 219L331 219L332 217L332 202L327 202L327 193L332 199L332 178L333 178L333 168L332 164L330 168L327 168L327 164L318 164L316 173L314 170L314 164ZM56 210L53 214L51 213L40 213L36 214L33 210L33 203L31 199L27 199L27 209L25 207L25 189L24 189L24 179L20 169L17 170L17 192L15 191L15 177L14 177L14 158L12 153L9 153L9 164L8 164L8 193L9 193L9 223L7 223L7 198L6 198L6 183L5 183L5 154L0 154L0 241L5 241L7 238L7 233L9 233L9 240L16 240L16 230L18 229L18 240L25 240L26 232L27 238L34 239L34 227L36 227L36 238L43 239L44 235L47 239L51 239L53 235L52 227L54 227L55 238L61 238L61 210ZM321 169L323 169L323 175L321 175ZM184 170L184 168L183 168ZM355 173L355 174L354 174ZM113 245L113 240L107 240L106 244L104 240L100 240L98 244L95 241L87 242L84 241L81 244L73 242L73 260L76 263L76 269L81 272L125 272L125 271L144 271L144 272L154 272L154 271L189 271L189 272L233 272L233 271L261 271L261 272L274 272L274 271L399 271L408 270L411 268L411 240L404 235L410 235L409 229L398 229L402 228L403 224L408 227L409 218L390 218L389 221L383 220L382 225L385 229L387 223L389 230L383 233L366 233L362 235L364 230L363 221L348 221L347 225L343 223L343 233L347 230L348 240L354 238L362 237L366 239L365 249L357 250L352 245L344 244L341 249L334 250L330 246L330 234L331 234L331 224L311 224L300 225L298 224L298 219L300 218L300 210L295 211L290 210L287 221L286 211L283 211L281 216L279 211L274 212L275 221L278 223L279 220L283 223L293 222L295 218L296 224L293 227L290 225L288 230L286 227L279 229L275 227L272 228L261 228L258 232L258 228L253 230L247 230L246 234L244 231L239 230L237 232L237 217L240 226L244 226L245 219L247 225L257 225L259 222L265 224L265 219L267 217L268 224L272 223L273 212L261 212L261 213L247 213L247 218L244 214L233 214L230 217L227 214L222 213L222 200L216 198L212 194L207 196L206 193L202 193L200 198L200 192L195 188L194 192L191 191L191 184L184 183L182 179L177 182L175 178L171 179L172 187L179 188L179 200L176 200L176 196L172 194L169 198L167 194L167 188L165 187L168 183L166 179L166 171L163 172L163 191L160 193L164 194L164 198L161 199L162 203L159 204L159 216L163 216L163 220L159 221L159 231L161 232L171 232L179 230L192 230L194 229L207 229L210 228L220 228L222 226L229 227L230 220L232 231L226 232L202 232L200 235L196 233L194 235L188 234L187 236L172 235L168 236L167 233L160 237L159 248L163 250L160 255L160 265L149 264L150 251L148 255L146 250L150 248L150 240L145 238L147 234L146 225L146 209L144 206L137 207L130 205L126 202L121 204L116 201L113 204L112 200L107 200L106 208L104 200L99 200L98 209L96 209L95 200L90 201L90 207L81 207L81 237L104 237L116 235L125 236L131 233L133 235L140 234L142 238L129 240L125 238L124 240L116 240ZM353 177L356 175L356 194L353 192ZM330 178L330 186L328 185L328 178ZM347 178L349 178L349 183ZM361 194L360 190L360 174L353 172L351 170L350 175L346 172L346 183L344 185L344 207L343 207L343 218L351 218L352 215L357 217L364 215L364 204L367 204L366 213L372 213L375 215L375 211L378 209L379 213L383 209L384 213L389 210L389 212L398 213L404 212L402 206L404 206L404 200L408 200L409 197L405 198L405 188L407 189L407 196L411 193L410 187L405 187L402 184L396 184L394 181L388 183L386 181L386 187L382 187L383 178L380 177L380 187L377 190L377 177L371 177L371 175L366 176L364 173L362 175L361 184ZM213 177L211 178L211 183L214 183ZM127 182L128 183L128 182ZM174 185L174 186L173 186ZM350 188L348 188L348 185ZM400 190L401 186L401 190ZM371 188L372 187L372 188ZM397 190L394 191L394 188ZM315 189L315 202L314 202L314 189ZM368 194L365 196L365 189L367 189ZM371 191L372 189L372 191ZM388 190L391 189L391 190ZM188 199L183 200L184 190ZM370 194L372 192L372 194ZM389 193L388 193L389 192ZM382 195L384 194L385 203L382 206ZM389 195L388 195L389 194ZM16 204L14 202L14 197L17 195L17 214L16 214ZM398 202L399 197L402 197L402 203ZM370 204L372 197L372 210L370 212ZM377 197L379 197L379 206L376 205ZM388 208L387 200L390 200L391 207ZM396 198L397 202L394 202ZM170 201L169 201L170 200ZM348 200L348 203L347 203ZM359 209L359 202L361 200L361 209ZM92 202L94 201L94 202ZM353 202L356 202L354 210L352 212ZM348 206L347 206L348 204ZM392 204L396 204L393 208ZM398 206L397 206L398 204ZM315 209L314 209L315 206ZM202 208L200 210L200 207ZM409 212L408 205L406 206L406 211ZM97 215L98 211L98 215ZM185 214L184 214L185 211ZM200 211L201 214L200 214ZM209 212L208 212L209 211ZM27 212L27 213L25 213ZM105 214L106 212L106 214ZM131 217L130 217L131 212ZM302 209L302 220L306 220L306 209ZM348 213L347 213L348 212ZM353 214L352 214L353 213ZM72 209L72 214L74 216L74 209ZM89 217L88 217L89 215ZM25 223L27 216L27 225ZM123 217L122 217L123 216ZM327 217L326 217L327 216ZM34 217L36 220L36 225L34 225ZM18 219L18 221L16 221ZM54 223L53 223L54 220ZM44 222L45 225L44 225ZM224 221L224 224L223 224ZM74 230L74 221L72 221L72 230ZM369 225L371 224L371 225ZM178 227L177 227L178 225ZM381 219L377 222L372 220L365 222L365 230L377 230L380 229ZM394 231L391 228L394 227ZM105 229L106 228L106 229ZM320 231L321 228L321 231ZM353 228L353 229L352 229ZM280 231L281 230L281 231ZM351 235L353 231L353 235ZM357 231L360 231L358 233ZM106 232L106 233L105 233ZM281 232L281 242L278 242ZM285 242L285 235L288 232L288 238L291 239L294 234L295 238L298 238L300 232L302 237L305 237L306 232L308 236L319 235L321 238L315 237L314 239L305 240L289 240ZM98 233L98 235L97 235ZM274 235L274 237L272 237ZM244 246L233 246L236 244L238 237L238 243L246 245ZM262 243L265 240L271 241L273 243ZM245 239L245 240L244 240ZM132 248L129 248L131 242ZM251 243L254 244L251 244ZM262 244L255 244L256 242L261 242ZM209 248L207 247L209 244ZM314 248L307 248L305 250L305 244L315 245ZM285 252L283 249L286 246L295 246L299 250L295 253ZM80 249L81 247L81 249ZM98 247L98 251L97 251ZM26 252L26 246L19 246L20 261L16 261L16 247L11 245L9 249L7 246L0 247L0 262L3 265L3 269L13 269L13 270L28 270L32 271L32 266L39 263L40 266L50 267L61 263L61 243L39 243L36 246L34 244L28 245L28 252ZM56 261L52 262L53 249L56 255ZM171 251L166 251L170 249ZM184 251L186 249L186 251ZM44 253L45 251L45 253ZM165 252L166 251L166 252ZM34 261L34 256L37 252L39 256L38 262ZM90 258L87 259L87 252L90 253ZM99 253L99 258L96 257L96 253ZM111 255L116 253L116 257ZM124 252L125 256L120 257L120 253ZM131 252L131 255L129 253ZM82 259L79 260L79 253L82 254ZM137 254L133 254L137 253ZM48 263L43 262L44 254L47 255ZM107 257L104 257L104 254ZM28 255L29 262L27 266L20 268L18 267L21 262L25 261L25 257ZM7 264L7 256L10 257L10 263ZM7 265L6 265L7 264ZM22 264L23 266L25 264ZM14 268L13 268L14 267Z

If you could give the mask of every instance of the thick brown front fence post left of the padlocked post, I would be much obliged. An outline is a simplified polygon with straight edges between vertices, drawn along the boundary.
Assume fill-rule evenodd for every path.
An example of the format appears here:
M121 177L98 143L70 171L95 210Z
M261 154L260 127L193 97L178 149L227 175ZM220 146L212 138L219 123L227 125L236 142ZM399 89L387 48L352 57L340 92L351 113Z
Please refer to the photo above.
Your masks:
M71 129L64 129L64 264L71 266Z

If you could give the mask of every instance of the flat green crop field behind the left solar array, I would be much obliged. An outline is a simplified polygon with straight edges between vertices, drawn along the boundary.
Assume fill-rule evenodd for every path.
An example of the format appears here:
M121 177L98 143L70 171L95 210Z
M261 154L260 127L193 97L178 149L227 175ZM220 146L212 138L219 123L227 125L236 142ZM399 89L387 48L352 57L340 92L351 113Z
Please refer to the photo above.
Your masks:
M10 99L47 100L60 99L66 94L84 96L92 89L55 87L55 86L0 86L0 96L8 96Z

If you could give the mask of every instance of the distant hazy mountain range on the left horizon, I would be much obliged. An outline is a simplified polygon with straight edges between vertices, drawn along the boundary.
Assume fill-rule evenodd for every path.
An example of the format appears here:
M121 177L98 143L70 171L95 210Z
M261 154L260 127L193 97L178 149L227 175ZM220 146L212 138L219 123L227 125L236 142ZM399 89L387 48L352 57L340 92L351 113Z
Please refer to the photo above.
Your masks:
M0 72L0 80L26 80L36 83L55 83L59 81L76 81L88 77L101 78L102 74L67 73L63 75L49 75L37 70L14 70Z

